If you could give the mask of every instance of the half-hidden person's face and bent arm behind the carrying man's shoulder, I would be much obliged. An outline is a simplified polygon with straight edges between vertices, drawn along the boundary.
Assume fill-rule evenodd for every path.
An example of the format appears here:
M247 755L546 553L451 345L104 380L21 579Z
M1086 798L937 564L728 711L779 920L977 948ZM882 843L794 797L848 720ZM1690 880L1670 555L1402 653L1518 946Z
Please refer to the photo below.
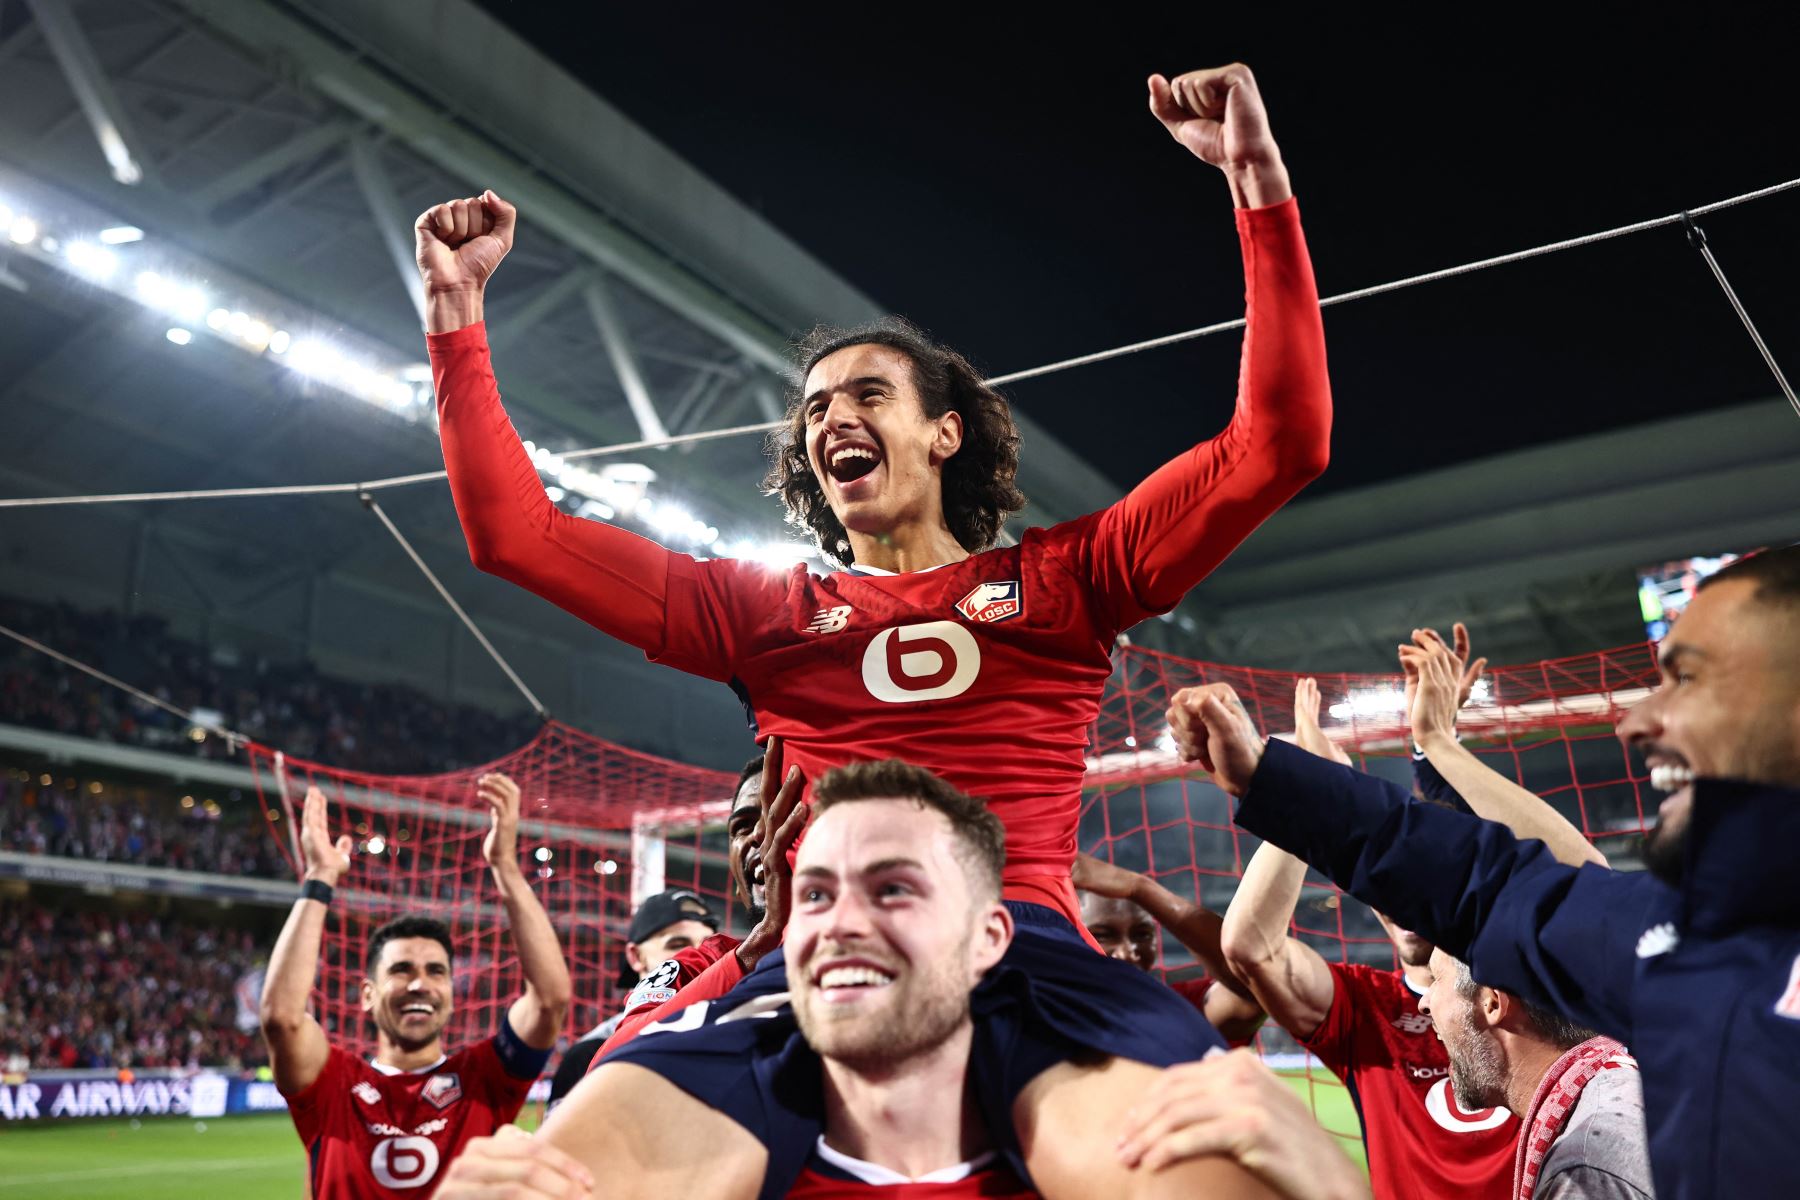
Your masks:
M1228 1043L1246 1045L1256 1036L1264 1011L1226 966L1219 946L1224 921L1217 912L1183 900L1147 874L1093 855L1075 856L1075 887L1082 900L1082 923L1105 954L1154 972L1156 927L1161 923L1206 968L1199 979L1165 982L1197 1007Z

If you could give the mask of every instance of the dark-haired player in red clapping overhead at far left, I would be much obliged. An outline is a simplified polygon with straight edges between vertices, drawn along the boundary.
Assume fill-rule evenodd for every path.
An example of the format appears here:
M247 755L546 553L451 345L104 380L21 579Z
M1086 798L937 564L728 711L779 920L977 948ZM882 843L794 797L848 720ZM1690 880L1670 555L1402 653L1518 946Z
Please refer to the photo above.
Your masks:
M362 984L362 1007L376 1029L371 1061L331 1045L306 1011L326 907L351 853L349 837L331 842L326 797L306 792L306 883L270 955L261 1020L317 1200L430 1196L472 1137L518 1115L569 1011L556 932L518 869L518 788L506 775L482 775L477 786L493 817L482 855L506 905L526 991L493 1038L446 1052L450 930L430 918L391 921L369 937Z

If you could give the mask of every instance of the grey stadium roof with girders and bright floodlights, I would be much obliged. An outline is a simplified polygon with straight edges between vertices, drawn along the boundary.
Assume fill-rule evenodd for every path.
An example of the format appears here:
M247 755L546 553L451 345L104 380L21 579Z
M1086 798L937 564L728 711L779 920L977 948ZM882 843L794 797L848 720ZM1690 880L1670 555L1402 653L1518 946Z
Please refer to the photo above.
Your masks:
M790 336L882 311L464 0L0 4L0 495L436 470L410 221L481 187L522 209L491 333L545 452L770 419ZM1021 425L1024 520L1116 497ZM653 473L646 533L779 542L749 441L594 461L621 470L585 486ZM1782 536L1796 455L1800 423L1746 408L1300 504L1141 637L1321 669L1379 669L1418 613L1490 622L1496 653L1629 640L1629 567ZM740 757L724 689L473 572L441 484L378 498L553 712ZM11 509L0 556L7 590L518 703L355 495Z

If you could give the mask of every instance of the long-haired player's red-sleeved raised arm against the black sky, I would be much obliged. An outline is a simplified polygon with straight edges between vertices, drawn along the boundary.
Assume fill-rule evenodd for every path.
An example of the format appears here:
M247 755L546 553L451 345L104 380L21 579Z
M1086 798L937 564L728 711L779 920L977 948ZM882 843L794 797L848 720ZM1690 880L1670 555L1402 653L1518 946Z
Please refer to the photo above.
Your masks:
M1150 79L1150 112L1238 205L1244 356L1229 425L1103 515L1096 578L1121 626L1168 612L1330 457L1325 326L1300 210L1256 81L1231 65Z

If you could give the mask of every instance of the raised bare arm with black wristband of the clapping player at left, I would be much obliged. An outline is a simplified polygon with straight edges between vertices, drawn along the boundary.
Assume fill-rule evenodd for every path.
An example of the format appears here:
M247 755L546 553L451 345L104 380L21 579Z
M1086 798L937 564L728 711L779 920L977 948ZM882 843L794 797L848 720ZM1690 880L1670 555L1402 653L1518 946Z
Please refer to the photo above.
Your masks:
M301 810L301 858L306 882L331 889L349 871L349 837L331 842L326 828L326 797L319 788L306 790ZM268 955L263 975L263 1000L257 1016L263 1024L263 1042L268 1045L268 1065L275 1072L275 1088L283 1096L297 1096L313 1085L324 1070L331 1043L319 1020L306 1009L319 975L319 943L326 932L326 901L302 896L293 901L288 921L281 927L275 950Z

